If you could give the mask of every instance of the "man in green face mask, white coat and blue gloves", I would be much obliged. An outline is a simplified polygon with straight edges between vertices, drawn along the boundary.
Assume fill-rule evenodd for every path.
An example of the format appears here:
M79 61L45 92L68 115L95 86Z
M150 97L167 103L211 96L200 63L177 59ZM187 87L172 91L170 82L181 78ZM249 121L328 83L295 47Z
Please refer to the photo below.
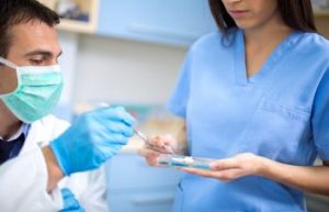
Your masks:
M123 108L71 126L48 115L63 77L58 15L35 0L0 0L1 212L107 211L102 164L133 135Z

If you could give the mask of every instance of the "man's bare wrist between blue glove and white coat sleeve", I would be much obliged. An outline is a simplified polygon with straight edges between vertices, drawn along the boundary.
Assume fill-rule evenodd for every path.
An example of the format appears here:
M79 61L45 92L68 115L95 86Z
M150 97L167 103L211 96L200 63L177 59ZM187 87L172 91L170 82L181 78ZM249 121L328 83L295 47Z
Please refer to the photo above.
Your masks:
M48 171L47 191L50 192L58 181L64 177L60 167L57 164L55 155L49 146L42 148Z

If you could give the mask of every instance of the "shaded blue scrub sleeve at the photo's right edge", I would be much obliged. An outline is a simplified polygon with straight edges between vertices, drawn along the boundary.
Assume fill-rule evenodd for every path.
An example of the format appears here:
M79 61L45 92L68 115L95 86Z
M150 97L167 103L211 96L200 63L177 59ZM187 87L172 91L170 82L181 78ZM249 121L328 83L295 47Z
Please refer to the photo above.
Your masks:
M329 67L317 89L311 124L318 155L329 161Z

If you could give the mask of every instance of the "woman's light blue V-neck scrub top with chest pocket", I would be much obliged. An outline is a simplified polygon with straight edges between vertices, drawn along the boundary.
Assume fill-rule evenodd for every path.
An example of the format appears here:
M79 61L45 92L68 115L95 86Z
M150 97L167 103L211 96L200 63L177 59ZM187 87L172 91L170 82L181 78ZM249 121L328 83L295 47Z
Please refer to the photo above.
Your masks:
M190 49L168 109L186 121L190 154L253 153L310 166L329 161L329 42L293 32L259 72L246 75L243 31L219 32ZM260 176L222 182L185 175L174 212L302 212L303 193Z

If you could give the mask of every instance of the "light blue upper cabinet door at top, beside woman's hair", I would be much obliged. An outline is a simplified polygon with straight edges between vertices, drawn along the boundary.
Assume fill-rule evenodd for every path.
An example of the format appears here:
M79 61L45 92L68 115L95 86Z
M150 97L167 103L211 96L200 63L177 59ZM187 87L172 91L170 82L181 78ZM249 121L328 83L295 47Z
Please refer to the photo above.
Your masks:
M98 34L190 45L212 27L207 0L101 0Z

